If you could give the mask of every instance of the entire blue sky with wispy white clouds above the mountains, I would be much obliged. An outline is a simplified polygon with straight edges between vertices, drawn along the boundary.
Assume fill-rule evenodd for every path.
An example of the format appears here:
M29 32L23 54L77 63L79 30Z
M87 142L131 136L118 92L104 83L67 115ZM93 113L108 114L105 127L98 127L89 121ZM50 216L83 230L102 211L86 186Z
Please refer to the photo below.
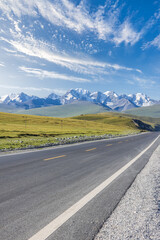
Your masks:
M160 99L159 1L0 1L0 96L77 87Z

